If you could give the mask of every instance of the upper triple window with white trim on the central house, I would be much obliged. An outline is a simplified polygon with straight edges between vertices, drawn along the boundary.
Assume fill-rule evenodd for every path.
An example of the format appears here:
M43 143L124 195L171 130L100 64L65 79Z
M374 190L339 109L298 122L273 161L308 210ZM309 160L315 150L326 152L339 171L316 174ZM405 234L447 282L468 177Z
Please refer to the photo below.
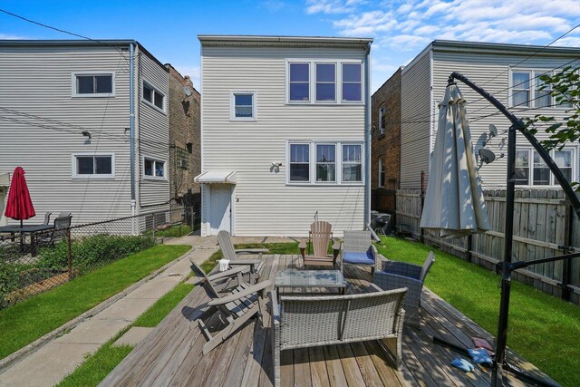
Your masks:
M360 103L362 90L361 62L314 59L287 62L288 103Z

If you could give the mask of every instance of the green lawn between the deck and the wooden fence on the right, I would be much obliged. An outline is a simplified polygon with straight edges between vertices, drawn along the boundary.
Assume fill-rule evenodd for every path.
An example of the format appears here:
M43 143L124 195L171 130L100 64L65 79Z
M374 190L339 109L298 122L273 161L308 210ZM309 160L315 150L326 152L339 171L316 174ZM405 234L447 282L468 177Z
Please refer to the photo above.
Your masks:
M379 252L422 265L435 251L425 285L491 334L498 332L499 276L456 256L394 237L383 237ZM562 385L580 385L580 307L512 282L507 344Z

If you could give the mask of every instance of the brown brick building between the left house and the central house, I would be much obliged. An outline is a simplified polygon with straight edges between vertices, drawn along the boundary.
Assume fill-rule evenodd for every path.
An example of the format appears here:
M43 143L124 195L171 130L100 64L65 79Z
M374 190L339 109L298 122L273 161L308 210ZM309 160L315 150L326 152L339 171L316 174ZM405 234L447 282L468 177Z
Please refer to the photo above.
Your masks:
M186 75L171 64L169 69L169 206L194 208L199 216L201 193L193 181L201 171L199 109L201 96ZM187 220L191 214L186 214ZM171 221L181 220L180 211L171 211Z

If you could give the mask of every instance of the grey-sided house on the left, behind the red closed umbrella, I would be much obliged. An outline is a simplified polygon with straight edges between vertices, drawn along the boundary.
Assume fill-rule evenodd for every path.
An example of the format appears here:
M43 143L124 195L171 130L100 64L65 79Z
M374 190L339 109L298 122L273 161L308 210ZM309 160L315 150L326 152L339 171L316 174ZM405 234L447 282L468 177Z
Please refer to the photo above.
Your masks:
M169 71L142 45L0 41L0 85L0 182L24 168L31 222L47 211L78 224L169 208Z

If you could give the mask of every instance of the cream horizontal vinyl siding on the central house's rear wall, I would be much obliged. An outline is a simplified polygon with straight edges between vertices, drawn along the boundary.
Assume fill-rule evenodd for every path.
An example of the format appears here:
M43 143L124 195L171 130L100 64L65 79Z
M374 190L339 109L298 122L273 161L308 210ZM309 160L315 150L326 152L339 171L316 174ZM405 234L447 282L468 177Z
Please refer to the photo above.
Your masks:
M362 229L362 184L286 184L286 156L289 140L362 143L364 105L314 103L314 92L309 94L313 102L290 103L287 69L288 63L301 59L361 63L364 56L363 49L202 46L203 170L237 171L232 203L236 235L305 236L316 211L333 224L336 236L344 229ZM230 93L235 90L256 91L259 96L259 120L251 125L230 121ZM310 160L314 162L312 152ZM279 171L272 168L273 162L282 163ZM206 186L204 205L208 194ZM207 218L204 213L202 221ZM207 232L202 227L202 233Z

